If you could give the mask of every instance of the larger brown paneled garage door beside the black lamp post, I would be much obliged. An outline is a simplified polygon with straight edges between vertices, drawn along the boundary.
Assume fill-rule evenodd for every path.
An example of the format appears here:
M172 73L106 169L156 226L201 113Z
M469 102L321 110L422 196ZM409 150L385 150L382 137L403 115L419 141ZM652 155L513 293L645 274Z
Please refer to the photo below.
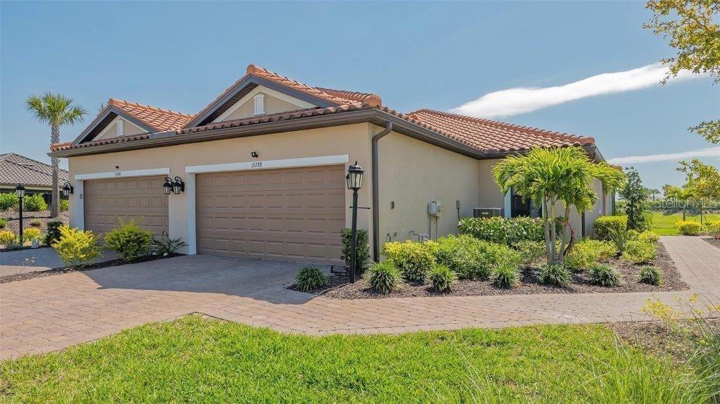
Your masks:
M199 253L341 263L344 166L197 174Z

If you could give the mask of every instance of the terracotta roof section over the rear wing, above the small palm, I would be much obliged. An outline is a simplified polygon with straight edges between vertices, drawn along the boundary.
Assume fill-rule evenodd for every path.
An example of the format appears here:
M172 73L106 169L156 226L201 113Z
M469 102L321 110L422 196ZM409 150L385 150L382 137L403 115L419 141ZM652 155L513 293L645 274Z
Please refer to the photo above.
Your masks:
M410 112L407 116L410 120L423 123L436 132L490 153L521 151L537 146L582 146L595 143L594 138L466 117L433 109L419 109Z

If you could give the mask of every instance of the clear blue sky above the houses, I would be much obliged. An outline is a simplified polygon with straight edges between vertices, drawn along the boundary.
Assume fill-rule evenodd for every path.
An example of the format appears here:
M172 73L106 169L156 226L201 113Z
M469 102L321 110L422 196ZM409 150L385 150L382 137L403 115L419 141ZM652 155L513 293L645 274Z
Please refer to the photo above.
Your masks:
M641 2L3 1L0 150L49 161L49 130L24 110L30 94L73 97L91 112L86 123L110 97L194 113L248 63L379 94L402 112L454 109L657 63L673 52L642 29L649 17ZM593 136L611 159L714 147L686 128L719 115L719 87L699 77L492 119ZM63 127L62 140L83 126ZM634 166L649 187L679 184L670 158Z

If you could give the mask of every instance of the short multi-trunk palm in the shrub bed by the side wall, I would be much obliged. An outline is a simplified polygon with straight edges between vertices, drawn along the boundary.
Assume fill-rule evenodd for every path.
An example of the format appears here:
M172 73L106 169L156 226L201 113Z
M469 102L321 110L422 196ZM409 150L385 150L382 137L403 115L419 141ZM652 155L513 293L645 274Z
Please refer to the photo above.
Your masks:
M503 193L513 189L542 206L545 251L549 264L562 264L565 246L572 246L570 209L590 210L598 201L593 183L598 179L606 192L621 187L625 174L608 163L593 163L578 147L534 148L524 156L510 156L492 168L495 182ZM557 217L560 203L564 215ZM552 223L552 226L551 226ZM562 225L562 241L557 251L557 225ZM570 230L570 231L568 231ZM570 234L570 239L567 235Z

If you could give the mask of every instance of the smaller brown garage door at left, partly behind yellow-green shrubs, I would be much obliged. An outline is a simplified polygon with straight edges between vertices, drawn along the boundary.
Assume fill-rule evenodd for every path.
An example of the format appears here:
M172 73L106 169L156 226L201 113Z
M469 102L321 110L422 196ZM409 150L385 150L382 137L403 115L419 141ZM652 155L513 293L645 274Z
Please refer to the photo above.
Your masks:
M168 231L168 197L164 176L138 176L85 181L85 228L105 233L120 220L135 220L141 228L160 235Z

